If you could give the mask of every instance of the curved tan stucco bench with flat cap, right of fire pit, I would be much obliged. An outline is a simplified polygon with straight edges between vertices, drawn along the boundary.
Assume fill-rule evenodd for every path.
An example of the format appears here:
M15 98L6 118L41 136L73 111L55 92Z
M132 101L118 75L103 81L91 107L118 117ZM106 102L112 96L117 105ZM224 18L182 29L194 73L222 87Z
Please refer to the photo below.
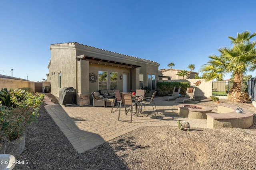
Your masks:
M252 126L254 113L248 109L243 109L242 113L236 113L237 107L230 104L218 104L218 113L206 113L207 128L248 128Z

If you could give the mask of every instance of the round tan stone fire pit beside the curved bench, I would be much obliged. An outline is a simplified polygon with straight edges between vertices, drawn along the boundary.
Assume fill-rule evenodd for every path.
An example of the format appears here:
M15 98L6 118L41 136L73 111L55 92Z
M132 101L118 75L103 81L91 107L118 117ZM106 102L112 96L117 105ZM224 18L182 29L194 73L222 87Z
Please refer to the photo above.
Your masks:
M179 115L192 119L207 119L205 113L212 113L212 108L196 104L179 104L177 107Z

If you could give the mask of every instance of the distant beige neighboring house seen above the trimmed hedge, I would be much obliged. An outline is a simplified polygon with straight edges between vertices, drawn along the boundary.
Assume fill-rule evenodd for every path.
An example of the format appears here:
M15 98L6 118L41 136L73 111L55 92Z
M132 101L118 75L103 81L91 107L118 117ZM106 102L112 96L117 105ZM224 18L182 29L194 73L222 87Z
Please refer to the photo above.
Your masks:
M168 68L168 69L160 69L159 70L160 72L162 72L162 75L163 75L163 78L160 78L160 80L170 80L168 77L171 77L172 80L180 80L180 79L183 79L182 76L178 76L176 74L178 74L178 72L180 70L178 69L173 69L173 68ZM198 75L197 72L190 72L190 76L184 76L184 79L192 79L192 78L195 78L195 75ZM164 76L167 76L167 77L164 77Z

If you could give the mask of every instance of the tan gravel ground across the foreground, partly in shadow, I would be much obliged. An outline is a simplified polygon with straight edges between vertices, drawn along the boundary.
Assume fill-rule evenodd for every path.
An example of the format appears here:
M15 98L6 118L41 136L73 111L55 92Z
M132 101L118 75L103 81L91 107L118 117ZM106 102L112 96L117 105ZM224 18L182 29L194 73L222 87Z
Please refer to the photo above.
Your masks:
M58 102L51 94L47 96ZM198 104L216 110L212 101ZM256 113L250 102L241 107ZM250 129L198 128L188 132L171 126L141 127L78 154L42 107L38 123L26 131L25 150L16 158L28 160L28 164L16 164L14 170L250 170L256 169L255 155L255 116Z

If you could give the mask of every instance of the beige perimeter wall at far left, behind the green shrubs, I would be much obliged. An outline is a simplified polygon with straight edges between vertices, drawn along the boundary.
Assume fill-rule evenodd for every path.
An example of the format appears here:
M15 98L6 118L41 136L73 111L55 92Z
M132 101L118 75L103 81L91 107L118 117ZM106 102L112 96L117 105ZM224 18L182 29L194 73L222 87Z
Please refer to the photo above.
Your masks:
M8 90L16 88L32 88L34 92L34 82L14 80L8 78L0 78L0 90L2 88L7 88Z

